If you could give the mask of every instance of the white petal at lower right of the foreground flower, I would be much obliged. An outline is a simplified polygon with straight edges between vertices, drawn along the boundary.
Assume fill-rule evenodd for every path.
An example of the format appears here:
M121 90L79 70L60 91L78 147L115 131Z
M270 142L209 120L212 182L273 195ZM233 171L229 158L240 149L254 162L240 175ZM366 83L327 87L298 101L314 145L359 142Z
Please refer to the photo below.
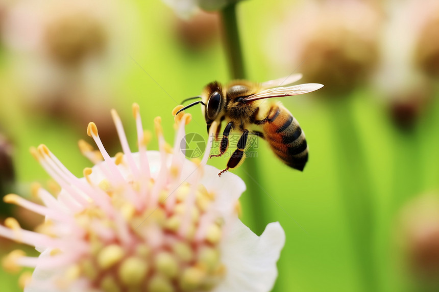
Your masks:
M213 291L270 291L277 278L276 262L284 244L285 232L279 222L270 223L257 236L237 219L221 247L226 278Z

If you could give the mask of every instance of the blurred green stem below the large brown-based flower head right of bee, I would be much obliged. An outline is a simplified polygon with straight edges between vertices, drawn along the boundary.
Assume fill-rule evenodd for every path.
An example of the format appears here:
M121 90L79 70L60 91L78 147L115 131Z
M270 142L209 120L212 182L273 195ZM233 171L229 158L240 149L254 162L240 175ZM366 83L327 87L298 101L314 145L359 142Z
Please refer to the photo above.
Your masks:
M374 214L371 179L366 157L355 126L352 100L331 100L334 146L337 162L334 165L340 180L340 192L347 216L354 258L363 291L378 291L374 260Z

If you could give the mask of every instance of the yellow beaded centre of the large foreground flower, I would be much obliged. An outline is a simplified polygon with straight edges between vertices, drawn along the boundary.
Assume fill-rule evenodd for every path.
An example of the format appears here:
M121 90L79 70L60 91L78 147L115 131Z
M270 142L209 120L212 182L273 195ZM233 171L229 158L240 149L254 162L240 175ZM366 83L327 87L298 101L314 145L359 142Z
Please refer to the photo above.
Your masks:
M156 184L150 180L150 193ZM175 191L168 185L158 192L157 204L140 210L127 201L127 189L117 190L105 179L99 187L121 218L94 203L75 216L89 249L63 278L86 278L91 287L109 292L203 291L221 281L223 224L209 213L214 194L203 185L184 182Z

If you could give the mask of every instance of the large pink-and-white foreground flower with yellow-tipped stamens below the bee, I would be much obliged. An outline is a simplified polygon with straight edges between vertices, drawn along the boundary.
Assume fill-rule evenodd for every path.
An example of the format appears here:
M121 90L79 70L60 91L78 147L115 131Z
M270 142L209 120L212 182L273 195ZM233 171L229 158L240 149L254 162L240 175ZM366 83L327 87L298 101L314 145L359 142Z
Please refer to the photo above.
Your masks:
M147 151L150 135L142 129L137 104L133 113L139 152L131 153L113 110L124 153L110 157L90 123L87 133L99 151L80 141L82 153L95 164L84 169L83 178L45 145L31 150L62 190L54 198L36 186L33 193L44 205L5 196L6 202L44 215L45 222L31 232L6 219L0 235L35 246L41 254L28 257L16 250L4 266L35 267L27 292L269 291L285 241L280 224L270 223L258 237L238 219L245 184L231 173L219 178L218 170L206 165L210 145L202 161L186 160L178 142L188 114L176 117L173 148L156 118L160 150Z

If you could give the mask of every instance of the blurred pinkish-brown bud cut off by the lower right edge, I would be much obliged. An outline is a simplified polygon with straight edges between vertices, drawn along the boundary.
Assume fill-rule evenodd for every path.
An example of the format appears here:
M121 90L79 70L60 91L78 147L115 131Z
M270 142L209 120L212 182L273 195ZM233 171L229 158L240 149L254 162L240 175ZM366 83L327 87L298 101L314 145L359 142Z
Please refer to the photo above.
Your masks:
M402 209L401 219L409 271L418 282L439 288L439 194L412 200Z

